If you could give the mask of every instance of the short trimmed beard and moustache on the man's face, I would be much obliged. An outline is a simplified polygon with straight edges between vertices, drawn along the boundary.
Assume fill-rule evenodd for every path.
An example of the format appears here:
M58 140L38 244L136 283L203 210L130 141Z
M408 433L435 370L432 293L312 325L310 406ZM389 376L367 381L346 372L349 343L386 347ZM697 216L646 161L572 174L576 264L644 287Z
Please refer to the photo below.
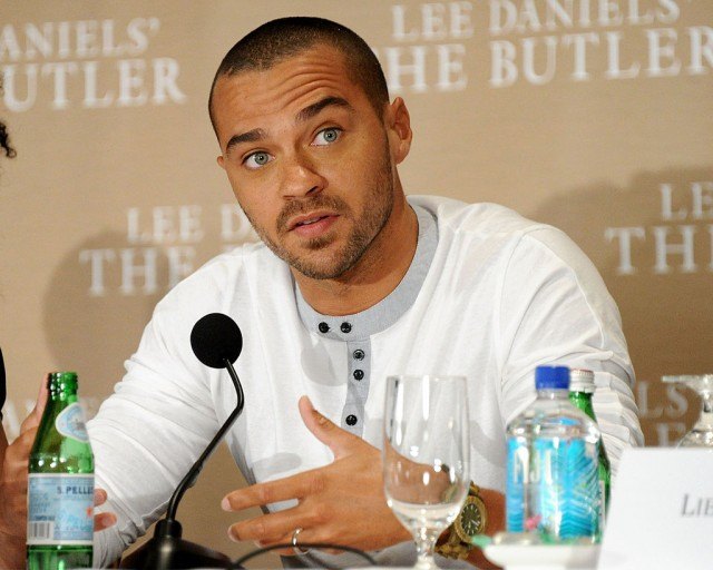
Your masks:
M393 210L392 164L385 137L384 142L384 151L379 165L367 181L368 199L364 212L359 218L342 198L324 191L309 198L289 202L277 216L277 236L284 237L290 232L287 222L291 217L315 209L335 212L340 217L352 220L352 228L342 247L330 248L335 238L325 235L303 243L300 246L302 252L290 249L283 245L284 239L279 243L270 237L266 228L256 224L250 213L243 208L262 242L283 262L312 279L335 279L354 267L387 225ZM305 249L306 254L303 253Z

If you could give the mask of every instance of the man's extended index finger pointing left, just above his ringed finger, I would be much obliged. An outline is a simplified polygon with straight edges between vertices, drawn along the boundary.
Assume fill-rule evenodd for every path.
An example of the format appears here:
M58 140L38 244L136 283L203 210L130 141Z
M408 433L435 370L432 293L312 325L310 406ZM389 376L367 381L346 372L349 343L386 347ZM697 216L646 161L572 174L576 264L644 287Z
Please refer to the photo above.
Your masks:
M224 511L240 511L251 507L264 507L280 501L302 499L319 492L323 487L323 474L319 469L297 473L285 479L256 483L226 494L221 501Z

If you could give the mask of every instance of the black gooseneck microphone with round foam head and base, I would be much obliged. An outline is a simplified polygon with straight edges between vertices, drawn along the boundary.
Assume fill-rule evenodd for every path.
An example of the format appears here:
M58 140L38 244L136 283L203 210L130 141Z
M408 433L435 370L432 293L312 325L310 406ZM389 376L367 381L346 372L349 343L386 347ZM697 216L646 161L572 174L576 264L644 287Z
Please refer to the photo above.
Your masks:
M235 410L208 443L203 454L183 478L168 501L166 518L156 523L154 538L121 561L121 568L137 570L168 570L189 568L229 568L231 559L208 548L183 540L183 529L176 520L178 503L188 488L193 487L207 459L218 446L225 433L243 411L245 396L233 363L243 350L241 330L229 316L211 313L199 318L191 332L191 347L196 357L212 368L227 368L235 385L237 403Z

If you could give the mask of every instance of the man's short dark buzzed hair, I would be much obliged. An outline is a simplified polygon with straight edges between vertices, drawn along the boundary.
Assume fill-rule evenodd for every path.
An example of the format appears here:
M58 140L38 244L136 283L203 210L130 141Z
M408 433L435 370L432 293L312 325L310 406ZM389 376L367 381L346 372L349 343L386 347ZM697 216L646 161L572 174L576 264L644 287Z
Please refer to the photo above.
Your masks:
M223 76L265 71L316 45L335 48L344 57L350 79L361 87L378 117L389 102L389 89L381 65L369 45L341 23L312 17L280 18L262 24L226 53L211 86L208 114L215 129L213 92Z

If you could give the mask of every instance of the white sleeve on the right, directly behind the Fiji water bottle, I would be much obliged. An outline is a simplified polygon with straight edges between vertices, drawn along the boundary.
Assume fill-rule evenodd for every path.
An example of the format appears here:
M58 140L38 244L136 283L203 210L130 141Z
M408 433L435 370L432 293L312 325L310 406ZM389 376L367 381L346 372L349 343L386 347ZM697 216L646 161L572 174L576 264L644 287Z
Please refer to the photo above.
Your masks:
M615 474L622 450L643 444L634 370L614 299L561 232L540 226L514 247L502 283L500 331L504 401L518 403L506 405L507 421L534 400L536 366L592 370L595 413Z

